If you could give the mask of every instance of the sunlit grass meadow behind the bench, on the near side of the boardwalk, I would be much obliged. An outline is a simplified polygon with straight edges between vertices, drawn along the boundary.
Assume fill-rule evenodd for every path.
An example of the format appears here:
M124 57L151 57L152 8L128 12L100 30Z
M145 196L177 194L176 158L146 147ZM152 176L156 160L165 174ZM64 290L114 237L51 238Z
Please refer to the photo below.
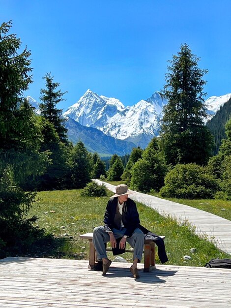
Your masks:
M38 226L45 228L55 238L62 239L61 246L49 252L50 257L88 259L88 242L81 240L83 233L92 232L93 228L103 224L103 215L109 196L81 197L81 190L43 191L38 193L38 201L33 205L29 215L38 217ZM159 235L165 235L166 250L169 264L204 266L212 258L229 257L220 252L213 244L200 239L194 234L191 225L185 221L179 226L172 217L163 217L152 209L137 203L142 225ZM196 253L190 253L190 248L197 248ZM192 257L190 261L183 259L184 255ZM39 256L48 256L42 251ZM127 261L132 261L132 254L122 255ZM109 257L113 259L111 252ZM156 255L157 263L159 262Z

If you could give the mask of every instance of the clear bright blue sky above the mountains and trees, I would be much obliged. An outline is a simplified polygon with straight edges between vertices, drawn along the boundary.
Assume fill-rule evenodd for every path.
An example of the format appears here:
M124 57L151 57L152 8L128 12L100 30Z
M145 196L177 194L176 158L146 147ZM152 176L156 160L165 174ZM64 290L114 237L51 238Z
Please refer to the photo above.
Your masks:
M209 70L205 98L231 93L230 12L231 0L0 0L0 22L31 51L25 94L39 101L51 72L64 110L88 88L125 106L150 97L181 43Z

